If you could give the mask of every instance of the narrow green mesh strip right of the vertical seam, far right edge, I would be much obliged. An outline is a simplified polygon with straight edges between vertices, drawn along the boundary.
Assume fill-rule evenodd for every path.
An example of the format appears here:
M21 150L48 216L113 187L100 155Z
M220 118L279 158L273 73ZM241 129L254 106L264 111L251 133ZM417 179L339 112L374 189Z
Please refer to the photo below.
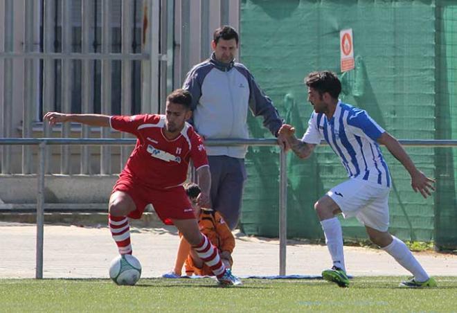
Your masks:
M445 4L445 5L444 5ZM457 139L457 1L436 10L436 138ZM436 149L435 240L457 247L457 149Z

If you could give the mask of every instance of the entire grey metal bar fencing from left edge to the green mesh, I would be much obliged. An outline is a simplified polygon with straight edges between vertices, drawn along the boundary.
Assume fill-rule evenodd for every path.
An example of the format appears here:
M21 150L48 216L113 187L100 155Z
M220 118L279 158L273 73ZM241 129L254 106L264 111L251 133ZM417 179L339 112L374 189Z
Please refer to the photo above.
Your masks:
M210 55L213 30L238 27L238 10L238 0L0 0L0 136L117 137L42 116L163 112L166 95ZM119 172L130 149L48 149L46 173ZM35 173L36 153L3 146L1 174Z

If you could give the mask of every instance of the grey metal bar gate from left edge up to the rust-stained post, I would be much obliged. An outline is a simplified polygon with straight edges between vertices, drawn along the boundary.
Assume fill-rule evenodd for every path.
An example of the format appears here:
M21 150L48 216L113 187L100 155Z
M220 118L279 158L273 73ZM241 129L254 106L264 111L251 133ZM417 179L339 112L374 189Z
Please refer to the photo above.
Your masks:
M109 138L109 129L85 125L51 129L41 122L43 113L159 111L160 10L159 0L0 1L1 135ZM121 149L121 162L126 149ZM51 153L46 151L46 172L71 174L69 147L57 152L60 166L54 170ZM80 174L93 172L91 154L98 153L99 172L111 172L109 147L91 152L83 146L79 153ZM15 168L16 157L21 162ZM1 173L36 172L32 159L31 147L13 151L5 146Z

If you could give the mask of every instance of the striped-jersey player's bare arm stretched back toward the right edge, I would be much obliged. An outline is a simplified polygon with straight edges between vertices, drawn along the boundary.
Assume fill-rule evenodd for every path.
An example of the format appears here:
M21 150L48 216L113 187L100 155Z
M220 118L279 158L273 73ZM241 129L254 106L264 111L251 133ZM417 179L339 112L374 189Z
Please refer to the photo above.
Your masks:
M418 191L422 194L422 197L427 198L431 195L431 190L435 190L432 183L435 182L434 179L431 179L424 175L423 172L418 170L409 155L403 149L402 145L388 132L384 132L377 140L378 143L385 145L389 152L395 159L400 161L404 168L409 172L411 176L411 187L417 193Z

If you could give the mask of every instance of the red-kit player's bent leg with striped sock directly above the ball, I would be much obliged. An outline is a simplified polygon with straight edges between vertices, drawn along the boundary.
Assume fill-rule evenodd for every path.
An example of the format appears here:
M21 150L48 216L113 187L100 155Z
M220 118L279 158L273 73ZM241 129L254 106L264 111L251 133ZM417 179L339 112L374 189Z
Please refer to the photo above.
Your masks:
M109 230L120 254L132 254L130 226L127 215L135 211L133 199L122 191L115 191L109 197Z

